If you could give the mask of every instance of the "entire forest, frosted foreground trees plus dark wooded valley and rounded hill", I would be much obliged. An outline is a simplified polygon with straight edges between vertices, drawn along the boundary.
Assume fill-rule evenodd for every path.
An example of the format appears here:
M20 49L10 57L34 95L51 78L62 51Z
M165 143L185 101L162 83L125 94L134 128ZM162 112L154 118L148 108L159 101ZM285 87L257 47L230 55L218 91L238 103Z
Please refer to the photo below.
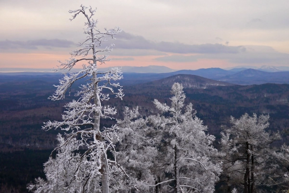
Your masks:
M55 71L83 69L0 76L0 192L289 191L288 84L177 74L121 86L120 69L97 70L121 29L100 32L91 7L69 12L88 39Z

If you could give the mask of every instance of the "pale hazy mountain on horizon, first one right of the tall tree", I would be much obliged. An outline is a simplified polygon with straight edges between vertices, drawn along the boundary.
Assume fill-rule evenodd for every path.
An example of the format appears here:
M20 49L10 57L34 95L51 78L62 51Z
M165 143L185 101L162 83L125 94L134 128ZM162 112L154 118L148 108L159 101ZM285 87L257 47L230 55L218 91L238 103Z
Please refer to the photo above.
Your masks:
M99 71L107 71L111 67L108 68L99 68ZM126 73L169 73L169 72L174 72L176 70L165 67L165 66L123 66L118 68L121 68L122 72Z

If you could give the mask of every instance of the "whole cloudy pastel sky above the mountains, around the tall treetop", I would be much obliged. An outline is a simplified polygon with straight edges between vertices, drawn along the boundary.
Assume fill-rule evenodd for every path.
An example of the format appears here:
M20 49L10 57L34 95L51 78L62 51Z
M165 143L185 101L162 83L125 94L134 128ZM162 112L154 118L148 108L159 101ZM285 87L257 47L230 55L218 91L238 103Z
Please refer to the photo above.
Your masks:
M0 0L0 68L53 68L84 40L85 18L116 26L105 66L289 66L288 0ZM77 66L80 67L80 66Z

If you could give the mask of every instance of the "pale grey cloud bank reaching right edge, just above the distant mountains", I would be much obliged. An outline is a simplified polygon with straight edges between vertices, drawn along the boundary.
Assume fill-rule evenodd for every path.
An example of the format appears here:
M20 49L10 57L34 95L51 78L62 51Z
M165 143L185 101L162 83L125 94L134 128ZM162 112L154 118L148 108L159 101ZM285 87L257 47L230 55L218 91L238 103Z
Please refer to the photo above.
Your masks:
M275 51L268 46L244 46L246 52L240 53L218 53L218 54L199 54L199 55L172 55L155 58L163 62L196 62L199 59L220 59L228 60L231 63L246 64L288 64L289 54Z

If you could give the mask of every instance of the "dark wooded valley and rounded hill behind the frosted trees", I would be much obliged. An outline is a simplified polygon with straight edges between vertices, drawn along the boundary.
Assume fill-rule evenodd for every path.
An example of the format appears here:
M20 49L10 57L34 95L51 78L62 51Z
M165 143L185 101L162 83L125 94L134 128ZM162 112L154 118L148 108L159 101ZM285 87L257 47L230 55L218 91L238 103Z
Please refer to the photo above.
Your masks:
M56 145L55 137L59 131L45 132L41 126L48 120L60 120L64 104L73 98L75 91L75 87L72 87L71 96L63 101L48 100L55 91L52 85L57 84L59 78L61 75L0 76L0 183L5 187L22 185L23 190L23 185L37 175L43 175L42 170L28 174L20 171L30 171L29 167L42 168L42 163L47 159L47 150ZM198 76L175 75L154 82L124 85L123 100L112 99L109 105L116 106L117 117L122 117L125 106L139 106L141 116L155 114L157 110L153 99L169 103L170 88L174 82L184 84L185 102L192 102L197 116L208 125L208 132L217 138L220 136L220 126L229 125L231 115L239 118L244 113L268 113L270 130L288 130L289 84L240 86ZM75 86L79 85L77 83ZM104 122L105 126L112 123ZM282 143L284 141L279 141L279 144ZM43 157L39 158L41 155ZM39 161L32 162L29 158ZM16 167L19 162L28 168ZM15 176L17 170L18 176Z

